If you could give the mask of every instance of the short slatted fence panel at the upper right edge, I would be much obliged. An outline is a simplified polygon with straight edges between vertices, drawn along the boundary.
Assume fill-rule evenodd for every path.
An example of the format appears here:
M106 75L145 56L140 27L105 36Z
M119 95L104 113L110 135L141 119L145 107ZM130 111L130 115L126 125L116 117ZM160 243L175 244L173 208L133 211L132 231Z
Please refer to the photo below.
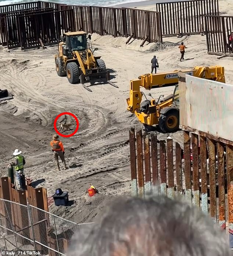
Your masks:
M233 16L205 15L208 54L233 56Z

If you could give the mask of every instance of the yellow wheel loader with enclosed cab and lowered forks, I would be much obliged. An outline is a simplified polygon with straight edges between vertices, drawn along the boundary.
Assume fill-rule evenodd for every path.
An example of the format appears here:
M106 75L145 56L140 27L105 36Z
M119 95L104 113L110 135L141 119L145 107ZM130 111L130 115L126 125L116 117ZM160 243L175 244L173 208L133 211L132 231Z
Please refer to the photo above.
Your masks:
M66 32L58 44L58 54L55 57L57 74L60 77L67 76L70 83L80 83L85 86L85 80L106 78L107 83L117 87L110 81L110 72L101 57L93 55L91 35L84 31ZM92 82L92 81L91 81Z

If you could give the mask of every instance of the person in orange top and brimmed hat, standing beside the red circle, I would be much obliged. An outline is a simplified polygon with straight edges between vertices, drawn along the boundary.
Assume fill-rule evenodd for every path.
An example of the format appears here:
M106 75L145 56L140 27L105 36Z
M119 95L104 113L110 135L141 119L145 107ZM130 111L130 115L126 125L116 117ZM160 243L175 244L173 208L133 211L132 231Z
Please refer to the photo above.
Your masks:
M50 146L52 147L53 157L54 157L55 164L57 166L57 171L60 171L58 156L61 158L61 161L65 170L67 169L67 166L66 166L65 157L64 157L65 149L62 142L58 138L59 136L57 134L53 135L53 141L50 141Z

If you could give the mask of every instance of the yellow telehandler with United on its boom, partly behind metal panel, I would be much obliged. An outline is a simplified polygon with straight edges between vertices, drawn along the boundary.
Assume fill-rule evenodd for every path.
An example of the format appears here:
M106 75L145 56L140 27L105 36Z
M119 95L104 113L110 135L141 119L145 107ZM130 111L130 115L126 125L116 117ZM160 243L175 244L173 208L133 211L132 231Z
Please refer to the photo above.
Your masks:
M192 70L182 70L186 74L195 77L210 79L225 83L224 68L215 67L194 67ZM173 94L159 99L144 100L141 102L143 92L140 87L153 89L164 86L174 86ZM149 94L151 96L151 94ZM162 99L161 99L162 97ZM160 100L161 99L161 100ZM129 98L126 99L127 110L135 113L138 120L148 126L158 125L162 132L175 132L179 129L179 88L178 70L158 74L141 75L138 79L130 81Z

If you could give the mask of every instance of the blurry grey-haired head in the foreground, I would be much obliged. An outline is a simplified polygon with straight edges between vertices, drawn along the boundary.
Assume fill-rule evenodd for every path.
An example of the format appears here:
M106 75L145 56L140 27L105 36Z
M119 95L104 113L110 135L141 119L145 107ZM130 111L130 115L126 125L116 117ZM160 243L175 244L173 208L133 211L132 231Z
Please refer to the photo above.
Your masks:
M118 198L92 225L74 235L68 255L230 255L226 234L211 218L187 202L163 195Z

